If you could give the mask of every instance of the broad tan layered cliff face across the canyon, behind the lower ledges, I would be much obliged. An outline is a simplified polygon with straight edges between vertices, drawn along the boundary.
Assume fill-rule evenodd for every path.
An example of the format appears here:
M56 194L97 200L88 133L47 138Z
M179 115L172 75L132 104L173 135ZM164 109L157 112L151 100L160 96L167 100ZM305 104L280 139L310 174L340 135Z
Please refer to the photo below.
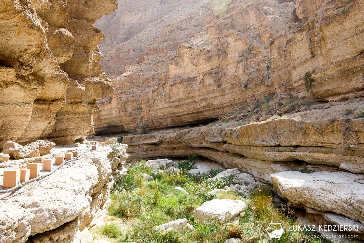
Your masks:
M278 93L320 102L363 96L361 1L220 2L201 1L153 36L98 101L96 133L209 121Z

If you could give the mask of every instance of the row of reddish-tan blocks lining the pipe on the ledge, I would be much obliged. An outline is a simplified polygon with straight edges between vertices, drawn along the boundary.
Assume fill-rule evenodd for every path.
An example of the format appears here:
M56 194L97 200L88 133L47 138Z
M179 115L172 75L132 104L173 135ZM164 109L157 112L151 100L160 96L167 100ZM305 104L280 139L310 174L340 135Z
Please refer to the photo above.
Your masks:
M93 146L94 147L94 146ZM95 147L96 149L96 147ZM95 150L92 148L92 150ZM77 157L78 152L73 151L72 153L65 153L63 156L56 156L55 164L63 164L64 160L71 160L72 157ZM27 169L16 169L13 171L4 171L3 176L3 187L16 187L20 181L25 182L30 179L34 179L40 174L40 163L27 164ZM43 171L53 171L53 161L51 159L43 160Z

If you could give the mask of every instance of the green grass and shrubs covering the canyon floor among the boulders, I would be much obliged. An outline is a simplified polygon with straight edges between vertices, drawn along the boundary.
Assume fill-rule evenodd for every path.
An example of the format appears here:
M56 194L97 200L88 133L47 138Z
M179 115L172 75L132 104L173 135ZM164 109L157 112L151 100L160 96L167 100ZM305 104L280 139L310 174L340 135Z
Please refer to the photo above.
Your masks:
M112 216L131 220L133 223L125 234L115 224L104 226L100 232L120 243L221 243L229 238L240 238L247 243L273 242L268 239L265 228L271 221L282 222L285 234L280 243L326 243L322 238L313 241L305 239L308 232L288 231L290 225L296 224L290 209L283 212L274 207L274 195L270 188L259 188L246 200L248 207L230 222L209 221L194 222L193 211L203 202L211 199L242 199L233 191L213 195L206 193L214 188L223 188L232 183L232 178L207 180L221 172L211 170L201 180L195 180L183 172L163 172L157 175L142 163L140 166L128 167L129 175L134 177L137 187L133 190L114 189L108 213ZM142 173L154 177L153 180L140 180ZM181 186L189 195L174 190ZM142 193L141 193L142 192ZM172 195L171 195L172 194ZM176 219L186 218L193 225L193 230L154 231L153 227Z

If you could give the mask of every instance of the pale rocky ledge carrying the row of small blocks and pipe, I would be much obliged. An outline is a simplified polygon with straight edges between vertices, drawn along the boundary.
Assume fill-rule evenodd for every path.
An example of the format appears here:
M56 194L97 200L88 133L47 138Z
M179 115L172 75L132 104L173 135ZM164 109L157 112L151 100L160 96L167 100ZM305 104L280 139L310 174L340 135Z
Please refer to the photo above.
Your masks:
M56 146L48 155L9 160L1 163L1 174L28 162L87 148L90 146ZM80 231L106 206L114 176L123 173L129 157L126 148L120 145L120 157L115 157L110 146L98 146L42 180L1 194L5 200L0 202L0 242L81 242ZM44 173L41 171L41 175Z

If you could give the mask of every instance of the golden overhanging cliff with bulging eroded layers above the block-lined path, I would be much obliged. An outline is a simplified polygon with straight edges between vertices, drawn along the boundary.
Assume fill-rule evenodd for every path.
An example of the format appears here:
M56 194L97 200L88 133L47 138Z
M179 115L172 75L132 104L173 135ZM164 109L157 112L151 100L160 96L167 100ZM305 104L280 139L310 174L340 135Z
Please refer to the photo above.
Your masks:
M0 145L92 133L96 99L112 92L92 26L115 0L4 0L0 3Z

